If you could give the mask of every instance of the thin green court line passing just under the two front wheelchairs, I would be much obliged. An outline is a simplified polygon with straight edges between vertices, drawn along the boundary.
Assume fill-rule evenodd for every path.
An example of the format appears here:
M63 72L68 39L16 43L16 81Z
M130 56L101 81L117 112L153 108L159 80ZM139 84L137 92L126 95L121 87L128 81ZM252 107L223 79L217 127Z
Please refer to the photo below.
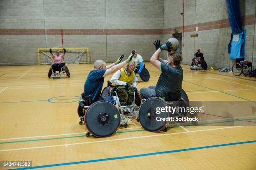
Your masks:
M246 120L256 120L256 118L252 119L241 119L241 120L226 120L221 122L209 122L209 123L201 123L198 125L210 125L210 124L216 124L216 123L226 123L226 122L240 122L240 121L246 121ZM184 125L184 127L188 126L195 126L195 125ZM179 126L169 127L169 128L179 128ZM144 129L141 130L127 130L127 131L118 131L116 133L131 133L131 132L140 132L140 131L146 131ZM86 132L84 132L86 133ZM41 140L56 140L56 139L67 139L67 138L81 138L85 137L85 135L79 135L79 136L69 136L69 137L61 137L61 138L46 138L46 139L34 139L34 140L18 140L18 141L9 141L9 142L0 142L1 144L7 144L7 143L21 143L21 142L34 142L34 141L41 141Z

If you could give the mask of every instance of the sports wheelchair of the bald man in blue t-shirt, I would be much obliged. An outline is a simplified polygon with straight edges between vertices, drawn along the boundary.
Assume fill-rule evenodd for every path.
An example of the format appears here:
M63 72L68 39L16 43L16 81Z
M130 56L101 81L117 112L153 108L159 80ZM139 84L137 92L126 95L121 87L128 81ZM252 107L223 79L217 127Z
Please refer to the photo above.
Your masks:
M80 118L79 125L84 124L88 130L87 137L90 134L97 138L111 136L118 130L119 126L127 128L128 119L120 112L120 106L116 106L116 101L97 101L92 103L91 96L82 94L82 101L79 101L77 113Z

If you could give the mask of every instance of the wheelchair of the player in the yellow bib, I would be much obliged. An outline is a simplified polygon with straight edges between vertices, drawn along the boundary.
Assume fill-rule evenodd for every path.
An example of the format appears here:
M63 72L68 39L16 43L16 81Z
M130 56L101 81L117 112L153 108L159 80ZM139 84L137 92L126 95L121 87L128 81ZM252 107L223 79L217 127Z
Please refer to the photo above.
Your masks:
M103 88L101 96L109 97L113 95L117 96L117 93L115 92L115 86L112 86L111 82L108 81L108 86ZM120 112L122 112L122 114L124 114L129 120L136 120L138 117L138 110L140 106L141 106L141 95L137 90L134 92L132 105L126 105L126 106L120 105Z

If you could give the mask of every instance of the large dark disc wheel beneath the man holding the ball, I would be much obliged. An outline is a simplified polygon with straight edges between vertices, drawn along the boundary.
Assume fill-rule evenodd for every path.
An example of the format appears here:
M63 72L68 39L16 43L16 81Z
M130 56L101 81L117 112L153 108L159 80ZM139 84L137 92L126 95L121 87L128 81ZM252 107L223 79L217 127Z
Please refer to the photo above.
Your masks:
M141 126L151 132L161 131L165 127L166 121L157 121L156 117L158 117L158 120L160 118L166 118L169 116L169 113L161 112L159 115L157 115L156 107L166 106L166 102L158 97L151 97L143 102L139 110L139 121Z

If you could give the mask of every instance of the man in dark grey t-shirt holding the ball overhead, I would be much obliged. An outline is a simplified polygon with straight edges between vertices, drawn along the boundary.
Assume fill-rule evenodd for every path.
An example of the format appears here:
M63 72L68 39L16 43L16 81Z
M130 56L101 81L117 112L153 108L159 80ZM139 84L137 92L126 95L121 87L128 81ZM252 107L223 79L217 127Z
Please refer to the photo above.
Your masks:
M156 47L156 52L152 55L150 62L161 71L161 75L156 86L141 88L141 98L148 99L150 97L161 97L165 100L166 94L172 93L172 100L179 100L183 81L183 70L180 66L182 55L171 52L172 44L170 42L160 45L160 41L157 41L154 45ZM159 58L162 50L168 51L167 61Z

